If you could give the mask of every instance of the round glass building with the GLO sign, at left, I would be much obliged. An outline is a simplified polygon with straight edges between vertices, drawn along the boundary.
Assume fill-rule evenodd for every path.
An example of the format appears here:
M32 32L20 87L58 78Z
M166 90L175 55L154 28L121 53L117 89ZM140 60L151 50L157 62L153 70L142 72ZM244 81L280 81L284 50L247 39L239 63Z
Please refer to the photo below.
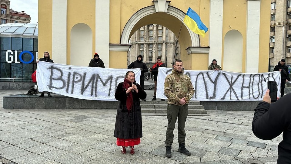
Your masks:
M0 25L0 82L31 81L38 58L38 25Z

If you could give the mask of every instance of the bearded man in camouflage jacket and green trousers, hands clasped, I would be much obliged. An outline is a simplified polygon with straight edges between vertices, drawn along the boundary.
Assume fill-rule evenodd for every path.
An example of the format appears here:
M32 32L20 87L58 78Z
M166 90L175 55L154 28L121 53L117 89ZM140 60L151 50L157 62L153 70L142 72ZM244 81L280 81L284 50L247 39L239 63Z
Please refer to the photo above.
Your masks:
M182 60L174 62L174 69L165 79L165 94L168 97L168 128L166 132L166 157L172 157L172 143L174 139L174 129L178 118L178 142L179 149L185 155L191 155L185 148L185 122L188 115L188 102L193 97L194 88L189 76L183 74Z

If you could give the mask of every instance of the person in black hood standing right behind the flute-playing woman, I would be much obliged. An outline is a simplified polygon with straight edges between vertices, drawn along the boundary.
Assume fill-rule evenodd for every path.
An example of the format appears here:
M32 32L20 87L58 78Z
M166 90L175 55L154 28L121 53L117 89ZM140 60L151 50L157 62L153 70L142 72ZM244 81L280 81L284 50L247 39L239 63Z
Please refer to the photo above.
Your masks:
M146 67L146 64L142 62L142 56L139 55L137 56L137 60L130 63L129 66L127 67L128 69L130 68L140 68L142 73L140 74L140 86L142 87L143 90L144 88L144 81L145 81L145 73L149 71L148 67ZM142 101L146 101L146 99L142 99Z

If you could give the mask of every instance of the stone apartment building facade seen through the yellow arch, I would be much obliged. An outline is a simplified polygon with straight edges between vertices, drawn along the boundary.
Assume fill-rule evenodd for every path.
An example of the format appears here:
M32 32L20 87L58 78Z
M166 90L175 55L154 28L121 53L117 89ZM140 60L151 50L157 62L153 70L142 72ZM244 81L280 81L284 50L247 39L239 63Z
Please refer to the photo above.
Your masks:
M176 44L177 42L177 44ZM171 68L173 57L180 59L179 41L175 34L162 25L150 24L142 26L130 38L130 53L127 64L136 61L137 56L143 56L143 62L151 68L160 57L166 67ZM175 51L176 50L176 51ZM149 73L149 77L151 74Z

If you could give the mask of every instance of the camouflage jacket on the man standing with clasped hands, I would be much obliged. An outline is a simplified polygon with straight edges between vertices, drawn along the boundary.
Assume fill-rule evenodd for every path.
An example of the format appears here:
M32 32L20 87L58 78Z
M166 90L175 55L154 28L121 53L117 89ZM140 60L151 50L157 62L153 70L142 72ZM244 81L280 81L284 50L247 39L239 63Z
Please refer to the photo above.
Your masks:
M183 74L184 70L179 73L175 69L172 70L165 79L165 94L168 97L168 104L179 104L181 98L185 97L186 104L193 97L194 88L189 76Z

